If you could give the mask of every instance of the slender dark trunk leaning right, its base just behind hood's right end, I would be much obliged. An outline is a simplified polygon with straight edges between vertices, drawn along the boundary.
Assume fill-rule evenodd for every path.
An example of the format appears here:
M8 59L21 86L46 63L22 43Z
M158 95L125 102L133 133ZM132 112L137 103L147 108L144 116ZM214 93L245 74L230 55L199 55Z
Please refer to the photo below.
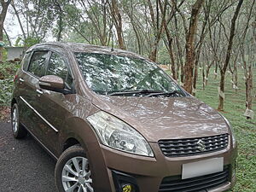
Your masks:
M219 66L219 71L220 71L219 94L218 94L218 110L219 111L224 111L225 73L226 73L227 67L229 66L229 63L230 63L233 39L235 37L235 30L236 30L236 19L239 15L242 3L243 3L243 0L239 0L238 4L236 6L236 11L231 20L230 38L229 38L228 49L226 51L224 65L222 67Z

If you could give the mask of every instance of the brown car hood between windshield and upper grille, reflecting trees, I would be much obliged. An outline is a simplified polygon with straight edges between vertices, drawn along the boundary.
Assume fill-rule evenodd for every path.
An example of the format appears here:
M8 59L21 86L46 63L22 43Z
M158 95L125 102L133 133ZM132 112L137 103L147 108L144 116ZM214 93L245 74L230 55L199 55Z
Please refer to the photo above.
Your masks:
M93 104L139 131L148 142L229 132L219 113L195 97L96 96Z

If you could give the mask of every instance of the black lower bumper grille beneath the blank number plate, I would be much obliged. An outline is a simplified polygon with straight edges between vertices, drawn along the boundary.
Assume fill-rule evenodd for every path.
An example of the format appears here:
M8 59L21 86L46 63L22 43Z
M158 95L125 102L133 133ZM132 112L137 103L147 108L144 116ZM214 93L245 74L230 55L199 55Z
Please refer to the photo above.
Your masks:
M223 172L210 175L181 179L181 176L165 177L160 184L159 192L206 192L229 181L229 168Z

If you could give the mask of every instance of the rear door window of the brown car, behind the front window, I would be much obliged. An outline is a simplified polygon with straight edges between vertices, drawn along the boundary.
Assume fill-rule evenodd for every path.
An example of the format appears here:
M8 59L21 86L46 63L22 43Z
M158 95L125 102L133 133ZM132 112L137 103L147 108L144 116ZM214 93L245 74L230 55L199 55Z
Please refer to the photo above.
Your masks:
M48 51L35 51L32 55L32 59L27 71L41 78L47 55Z

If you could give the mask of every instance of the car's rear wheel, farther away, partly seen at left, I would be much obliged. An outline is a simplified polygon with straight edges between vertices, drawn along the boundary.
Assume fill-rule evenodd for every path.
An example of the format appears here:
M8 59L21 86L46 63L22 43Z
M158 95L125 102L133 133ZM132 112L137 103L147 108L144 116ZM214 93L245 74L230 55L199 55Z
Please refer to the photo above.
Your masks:
M15 103L11 109L11 124L12 131L15 138L20 139L26 137L26 128L20 124L20 113L17 103Z

